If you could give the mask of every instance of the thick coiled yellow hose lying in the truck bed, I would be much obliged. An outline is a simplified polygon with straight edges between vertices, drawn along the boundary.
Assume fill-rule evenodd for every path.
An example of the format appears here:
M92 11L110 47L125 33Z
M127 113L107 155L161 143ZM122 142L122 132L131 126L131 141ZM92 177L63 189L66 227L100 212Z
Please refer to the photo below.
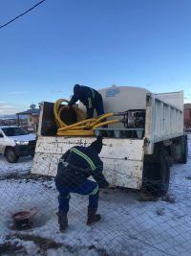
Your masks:
M69 107L68 105L62 105L60 107L63 102L69 103L66 99L59 99L53 105L55 122L58 127L58 136L95 136L95 128L119 122L118 120L109 120L101 123L101 121L107 117L114 116L114 113L107 113L97 118L85 119L86 115L84 111L73 105L72 107L77 117L77 123L68 126L60 118L61 112Z

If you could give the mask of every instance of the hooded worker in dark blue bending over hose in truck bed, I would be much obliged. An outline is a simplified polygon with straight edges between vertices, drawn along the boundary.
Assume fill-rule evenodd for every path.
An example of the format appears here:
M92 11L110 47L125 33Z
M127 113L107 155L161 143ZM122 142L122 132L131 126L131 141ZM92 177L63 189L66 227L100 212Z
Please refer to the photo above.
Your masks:
M77 101L80 101L86 106L87 116L86 118L92 118L94 116L94 110L96 109L97 115L104 114L103 100L95 89L88 86L75 84L74 85L74 95L69 102L69 106L74 105Z

